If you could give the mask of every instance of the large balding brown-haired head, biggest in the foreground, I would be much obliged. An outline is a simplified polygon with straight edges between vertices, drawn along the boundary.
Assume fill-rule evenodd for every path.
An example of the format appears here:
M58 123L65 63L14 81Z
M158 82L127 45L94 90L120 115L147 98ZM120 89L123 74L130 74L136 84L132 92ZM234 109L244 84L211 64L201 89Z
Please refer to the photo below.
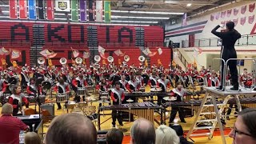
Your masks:
M82 114L62 114L50 123L46 144L96 144L97 132L89 118Z

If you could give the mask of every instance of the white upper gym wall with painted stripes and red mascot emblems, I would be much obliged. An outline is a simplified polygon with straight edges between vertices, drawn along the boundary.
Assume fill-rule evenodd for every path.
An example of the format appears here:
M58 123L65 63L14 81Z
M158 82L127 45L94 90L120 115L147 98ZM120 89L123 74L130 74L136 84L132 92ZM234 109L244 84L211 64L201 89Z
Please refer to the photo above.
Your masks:
M182 41L189 41L189 35L194 34L194 39L217 38L211 34L211 30L215 26L226 24L233 21L235 29L243 34L256 34L256 10L255 1L235 2L228 6L216 7L214 10L209 10L203 14L195 15L187 19L187 25L182 26L182 23L175 25L166 25L165 34L172 42L179 42L182 46ZM222 30L221 28L219 30ZM246 41L246 38L243 38ZM250 40L251 41L251 40ZM207 42L207 43L204 43ZM254 40L256 42L256 40ZM207 45L209 41L201 41L201 46ZM217 46L217 41L214 41ZM240 42L240 44L245 42ZM186 46L185 46L186 47Z

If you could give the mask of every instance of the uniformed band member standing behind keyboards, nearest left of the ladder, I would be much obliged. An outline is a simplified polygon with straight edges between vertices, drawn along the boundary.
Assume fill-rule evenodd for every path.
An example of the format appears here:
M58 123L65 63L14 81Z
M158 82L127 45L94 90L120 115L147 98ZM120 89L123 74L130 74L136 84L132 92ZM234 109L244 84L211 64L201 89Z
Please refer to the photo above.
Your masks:
M178 82L177 87L174 90L172 90L170 94L177 98L175 102L182 102L183 98L186 96L185 90L182 87L182 83ZM179 118L181 119L181 122L186 123L184 119L183 108L178 106L171 107L170 123L174 122L174 118L176 117L177 112L178 112Z

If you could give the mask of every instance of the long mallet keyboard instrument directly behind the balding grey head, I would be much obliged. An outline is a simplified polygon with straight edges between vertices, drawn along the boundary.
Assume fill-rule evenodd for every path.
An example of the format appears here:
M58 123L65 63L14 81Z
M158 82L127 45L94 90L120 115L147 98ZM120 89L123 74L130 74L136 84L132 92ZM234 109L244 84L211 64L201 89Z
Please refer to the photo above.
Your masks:
M146 118L150 122L156 121L154 119L154 110L160 110L161 107L157 104L152 102L134 102L134 103L126 103L121 105L109 105L109 106L102 106L98 109L98 130L100 130L100 111L102 110L118 110L123 112L128 112L130 114L134 114L138 116L138 118ZM162 111L162 110L161 110ZM162 123L162 112L161 116L161 123Z

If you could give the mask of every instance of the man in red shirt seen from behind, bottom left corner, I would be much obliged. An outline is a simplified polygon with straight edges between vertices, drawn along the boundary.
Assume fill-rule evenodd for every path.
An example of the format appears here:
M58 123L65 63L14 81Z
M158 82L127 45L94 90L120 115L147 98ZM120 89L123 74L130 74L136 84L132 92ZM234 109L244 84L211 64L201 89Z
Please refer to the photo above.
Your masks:
M2 106L2 116L0 117L0 143L19 143L19 133L21 130L29 130L22 120L12 116L13 106L6 103Z

